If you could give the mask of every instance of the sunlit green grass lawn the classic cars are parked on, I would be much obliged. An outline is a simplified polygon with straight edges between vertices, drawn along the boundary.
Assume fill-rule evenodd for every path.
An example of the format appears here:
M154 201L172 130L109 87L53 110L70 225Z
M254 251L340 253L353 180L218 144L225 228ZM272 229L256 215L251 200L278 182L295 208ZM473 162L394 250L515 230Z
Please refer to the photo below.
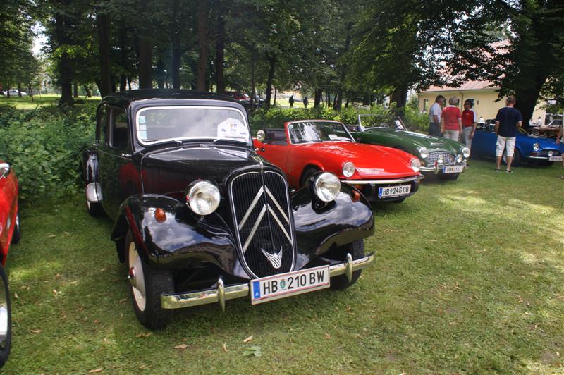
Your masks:
M82 197L24 207L4 371L562 373L562 173L472 161L457 181L375 207L376 264L349 290L185 309L154 332L135 319L109 219ZM262 357L244 357L250 346Z

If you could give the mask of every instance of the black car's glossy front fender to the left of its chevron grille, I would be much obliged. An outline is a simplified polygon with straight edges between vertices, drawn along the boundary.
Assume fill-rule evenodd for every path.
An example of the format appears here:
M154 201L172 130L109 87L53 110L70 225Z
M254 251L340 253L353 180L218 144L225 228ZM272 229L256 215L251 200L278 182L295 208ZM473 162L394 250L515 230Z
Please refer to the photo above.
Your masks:
M164 221L155 211L163 209ZM218 214L197 216L178 199L166 195L133 195L125 199L111 233L118 257L125 262L125 234L133 234L144 262L156 267L186 269L215 264L235 276L247 278L239 265L235 241Z

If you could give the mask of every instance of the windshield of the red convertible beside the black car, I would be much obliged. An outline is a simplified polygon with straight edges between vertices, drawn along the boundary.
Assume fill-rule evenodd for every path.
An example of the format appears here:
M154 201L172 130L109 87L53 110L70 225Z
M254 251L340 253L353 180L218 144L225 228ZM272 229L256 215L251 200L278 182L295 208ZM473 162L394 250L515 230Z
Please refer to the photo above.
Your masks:
M304 121L288 125L292 143L355 142L342 123L332 121Z

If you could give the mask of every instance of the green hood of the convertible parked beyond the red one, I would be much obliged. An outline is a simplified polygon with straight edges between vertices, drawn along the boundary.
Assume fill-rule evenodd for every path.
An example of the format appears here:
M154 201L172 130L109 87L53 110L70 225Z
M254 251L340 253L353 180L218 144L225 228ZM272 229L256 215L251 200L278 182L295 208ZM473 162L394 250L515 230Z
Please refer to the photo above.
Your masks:
M369 140L371 133L374 133L374 135L385 135L388 139L387 142L396 142L398 145L405 146L405 142L409 142L412 145L412 149L408 149L409 152L418 152L419 148L425 147L429 150L441 149L458 154L460 153L460 149L464 147L453 140L448 140L443 137L434 137L432 135L412 132L409 130L379 129L357 134L358 137L367 137L365 140Z

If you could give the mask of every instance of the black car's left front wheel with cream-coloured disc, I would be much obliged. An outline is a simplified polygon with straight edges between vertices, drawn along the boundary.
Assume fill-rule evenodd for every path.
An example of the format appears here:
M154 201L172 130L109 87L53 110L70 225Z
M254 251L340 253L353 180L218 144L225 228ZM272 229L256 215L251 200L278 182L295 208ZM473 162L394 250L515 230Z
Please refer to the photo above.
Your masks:
M131 230L125 237L125 254L129 291L137 319L147 328L164 328L172 319L172 311L161 307L161 294L174 291L171 271L155 269L143 262Z

